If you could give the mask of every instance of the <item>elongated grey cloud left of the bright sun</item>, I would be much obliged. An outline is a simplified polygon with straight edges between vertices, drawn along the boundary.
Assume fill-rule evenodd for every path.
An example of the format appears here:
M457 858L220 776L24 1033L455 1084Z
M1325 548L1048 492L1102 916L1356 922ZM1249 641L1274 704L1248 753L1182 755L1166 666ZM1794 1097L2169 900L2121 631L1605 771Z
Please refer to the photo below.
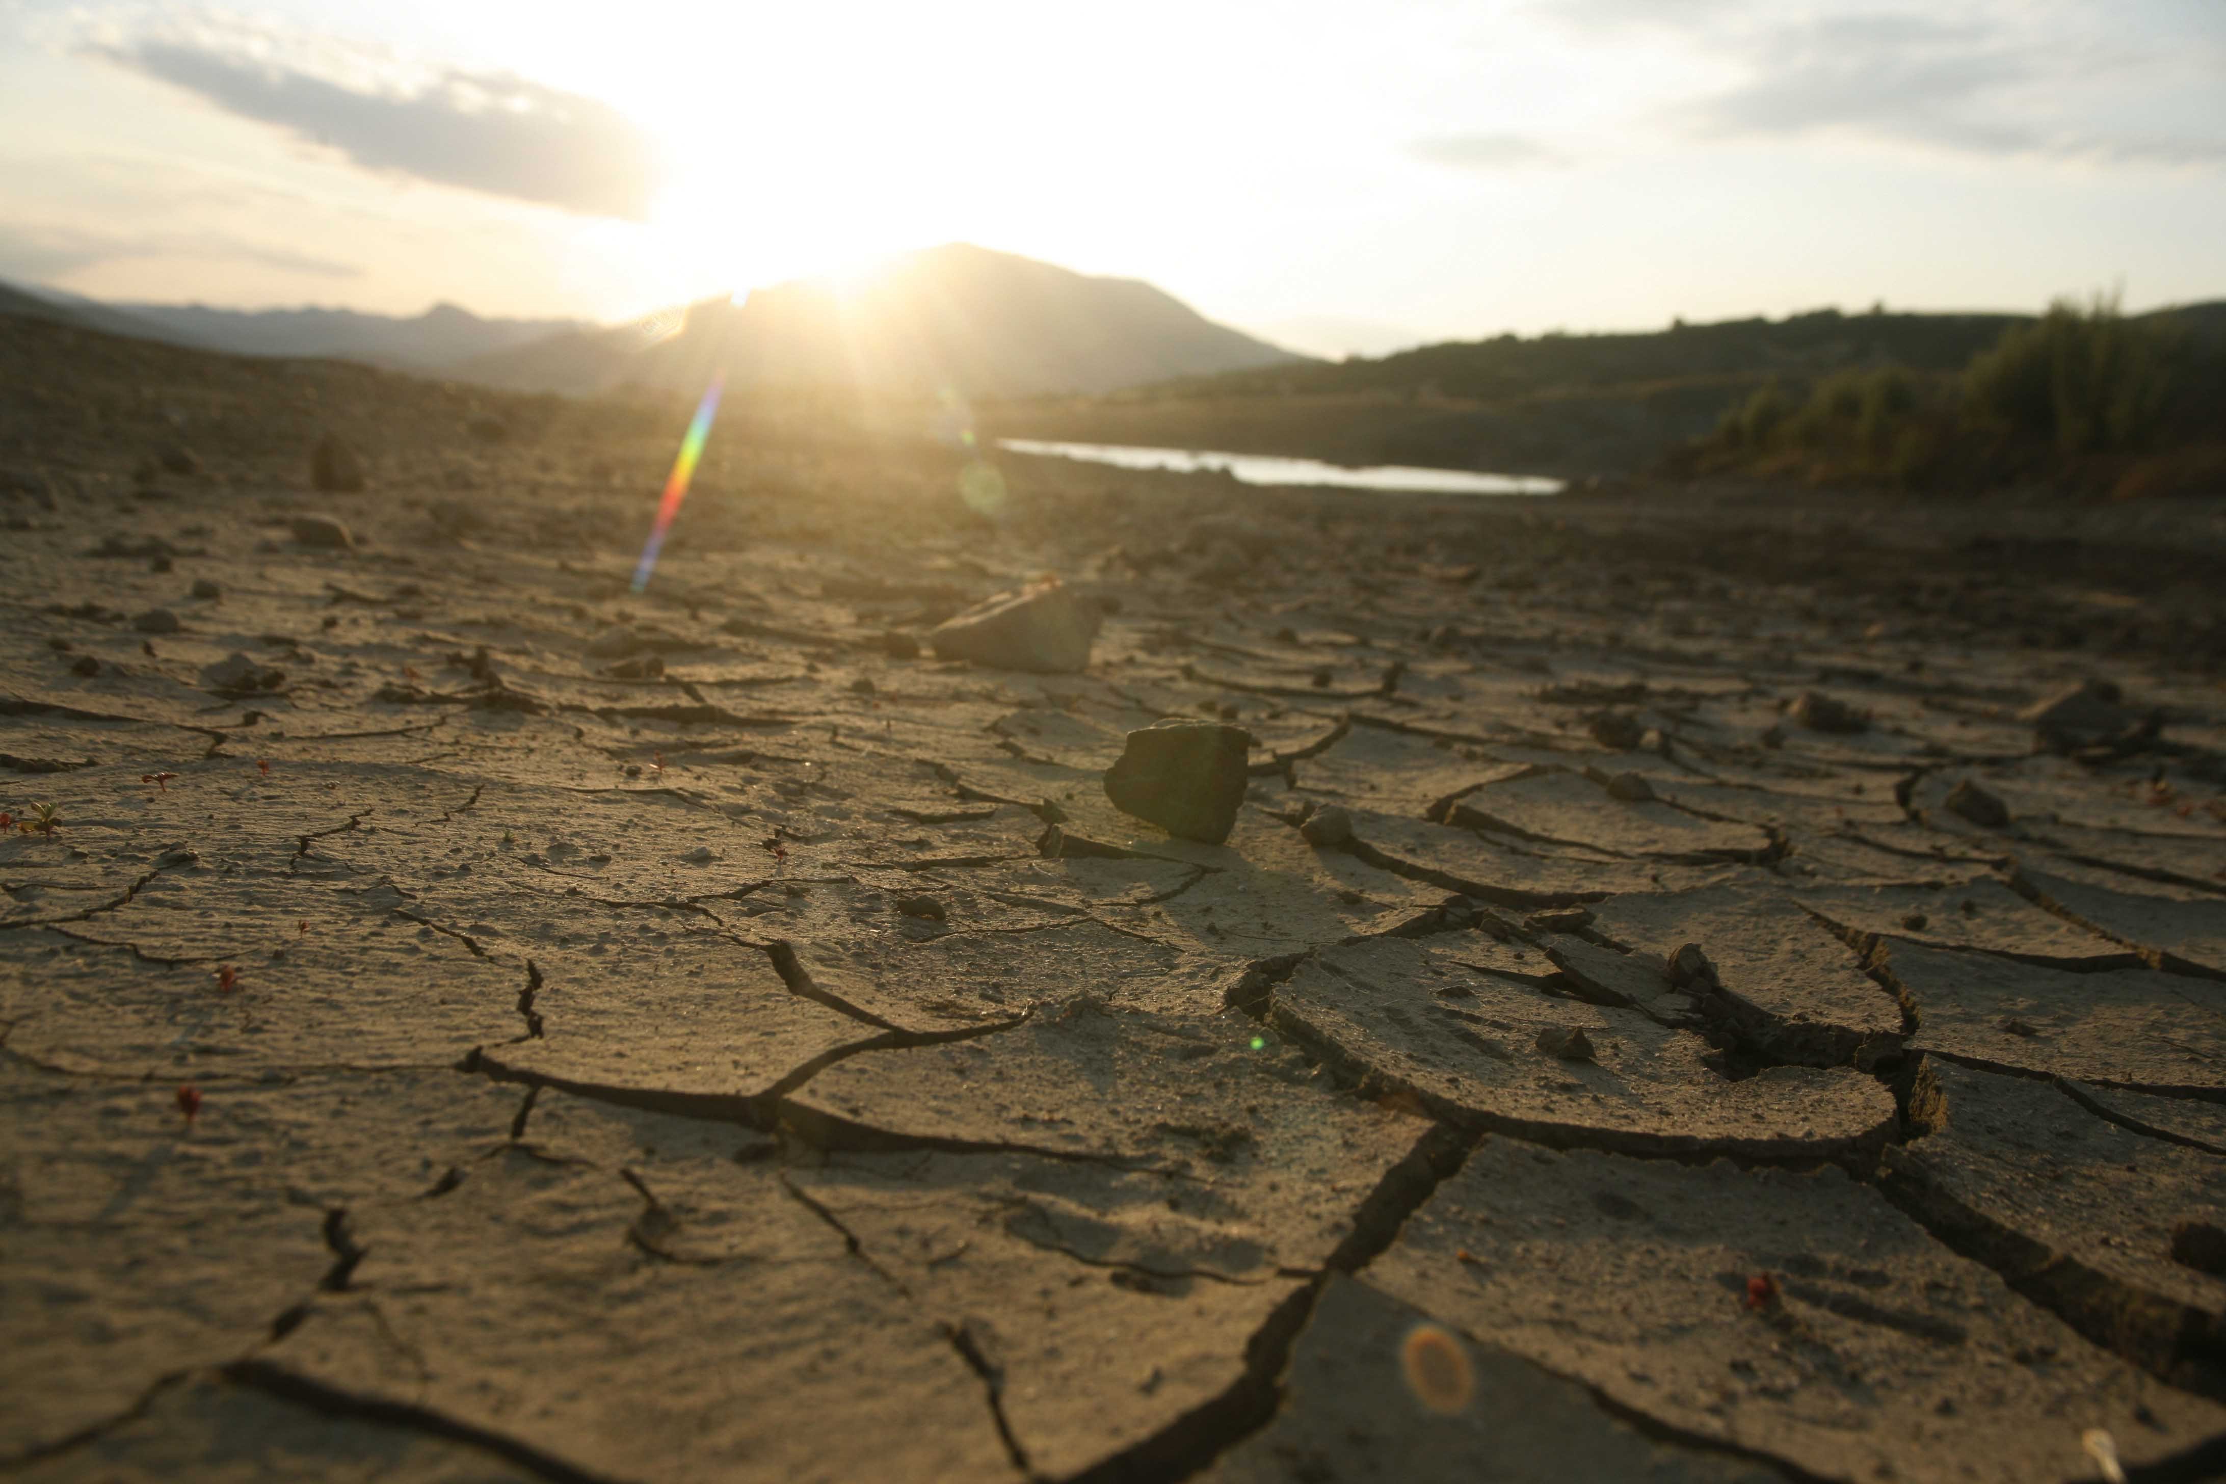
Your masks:
M632 120L525 78L450 69L414 89L347 87L258 56L267 47L254 38L147 38L91 51L372 171L628 220L648 216L657 187L657 151Z

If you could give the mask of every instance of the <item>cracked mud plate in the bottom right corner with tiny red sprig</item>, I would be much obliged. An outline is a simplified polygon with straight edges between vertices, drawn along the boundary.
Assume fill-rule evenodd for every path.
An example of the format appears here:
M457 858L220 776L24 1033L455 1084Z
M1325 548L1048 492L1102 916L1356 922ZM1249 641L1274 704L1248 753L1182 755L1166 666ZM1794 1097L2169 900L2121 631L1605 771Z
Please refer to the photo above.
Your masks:
M1770 1275L1776 1299L1747 1304ZM2226 1408L2095 1348L1836 1168L1485 1139L1367 1282L1692 1440L1823 1480L2092 1477Z

